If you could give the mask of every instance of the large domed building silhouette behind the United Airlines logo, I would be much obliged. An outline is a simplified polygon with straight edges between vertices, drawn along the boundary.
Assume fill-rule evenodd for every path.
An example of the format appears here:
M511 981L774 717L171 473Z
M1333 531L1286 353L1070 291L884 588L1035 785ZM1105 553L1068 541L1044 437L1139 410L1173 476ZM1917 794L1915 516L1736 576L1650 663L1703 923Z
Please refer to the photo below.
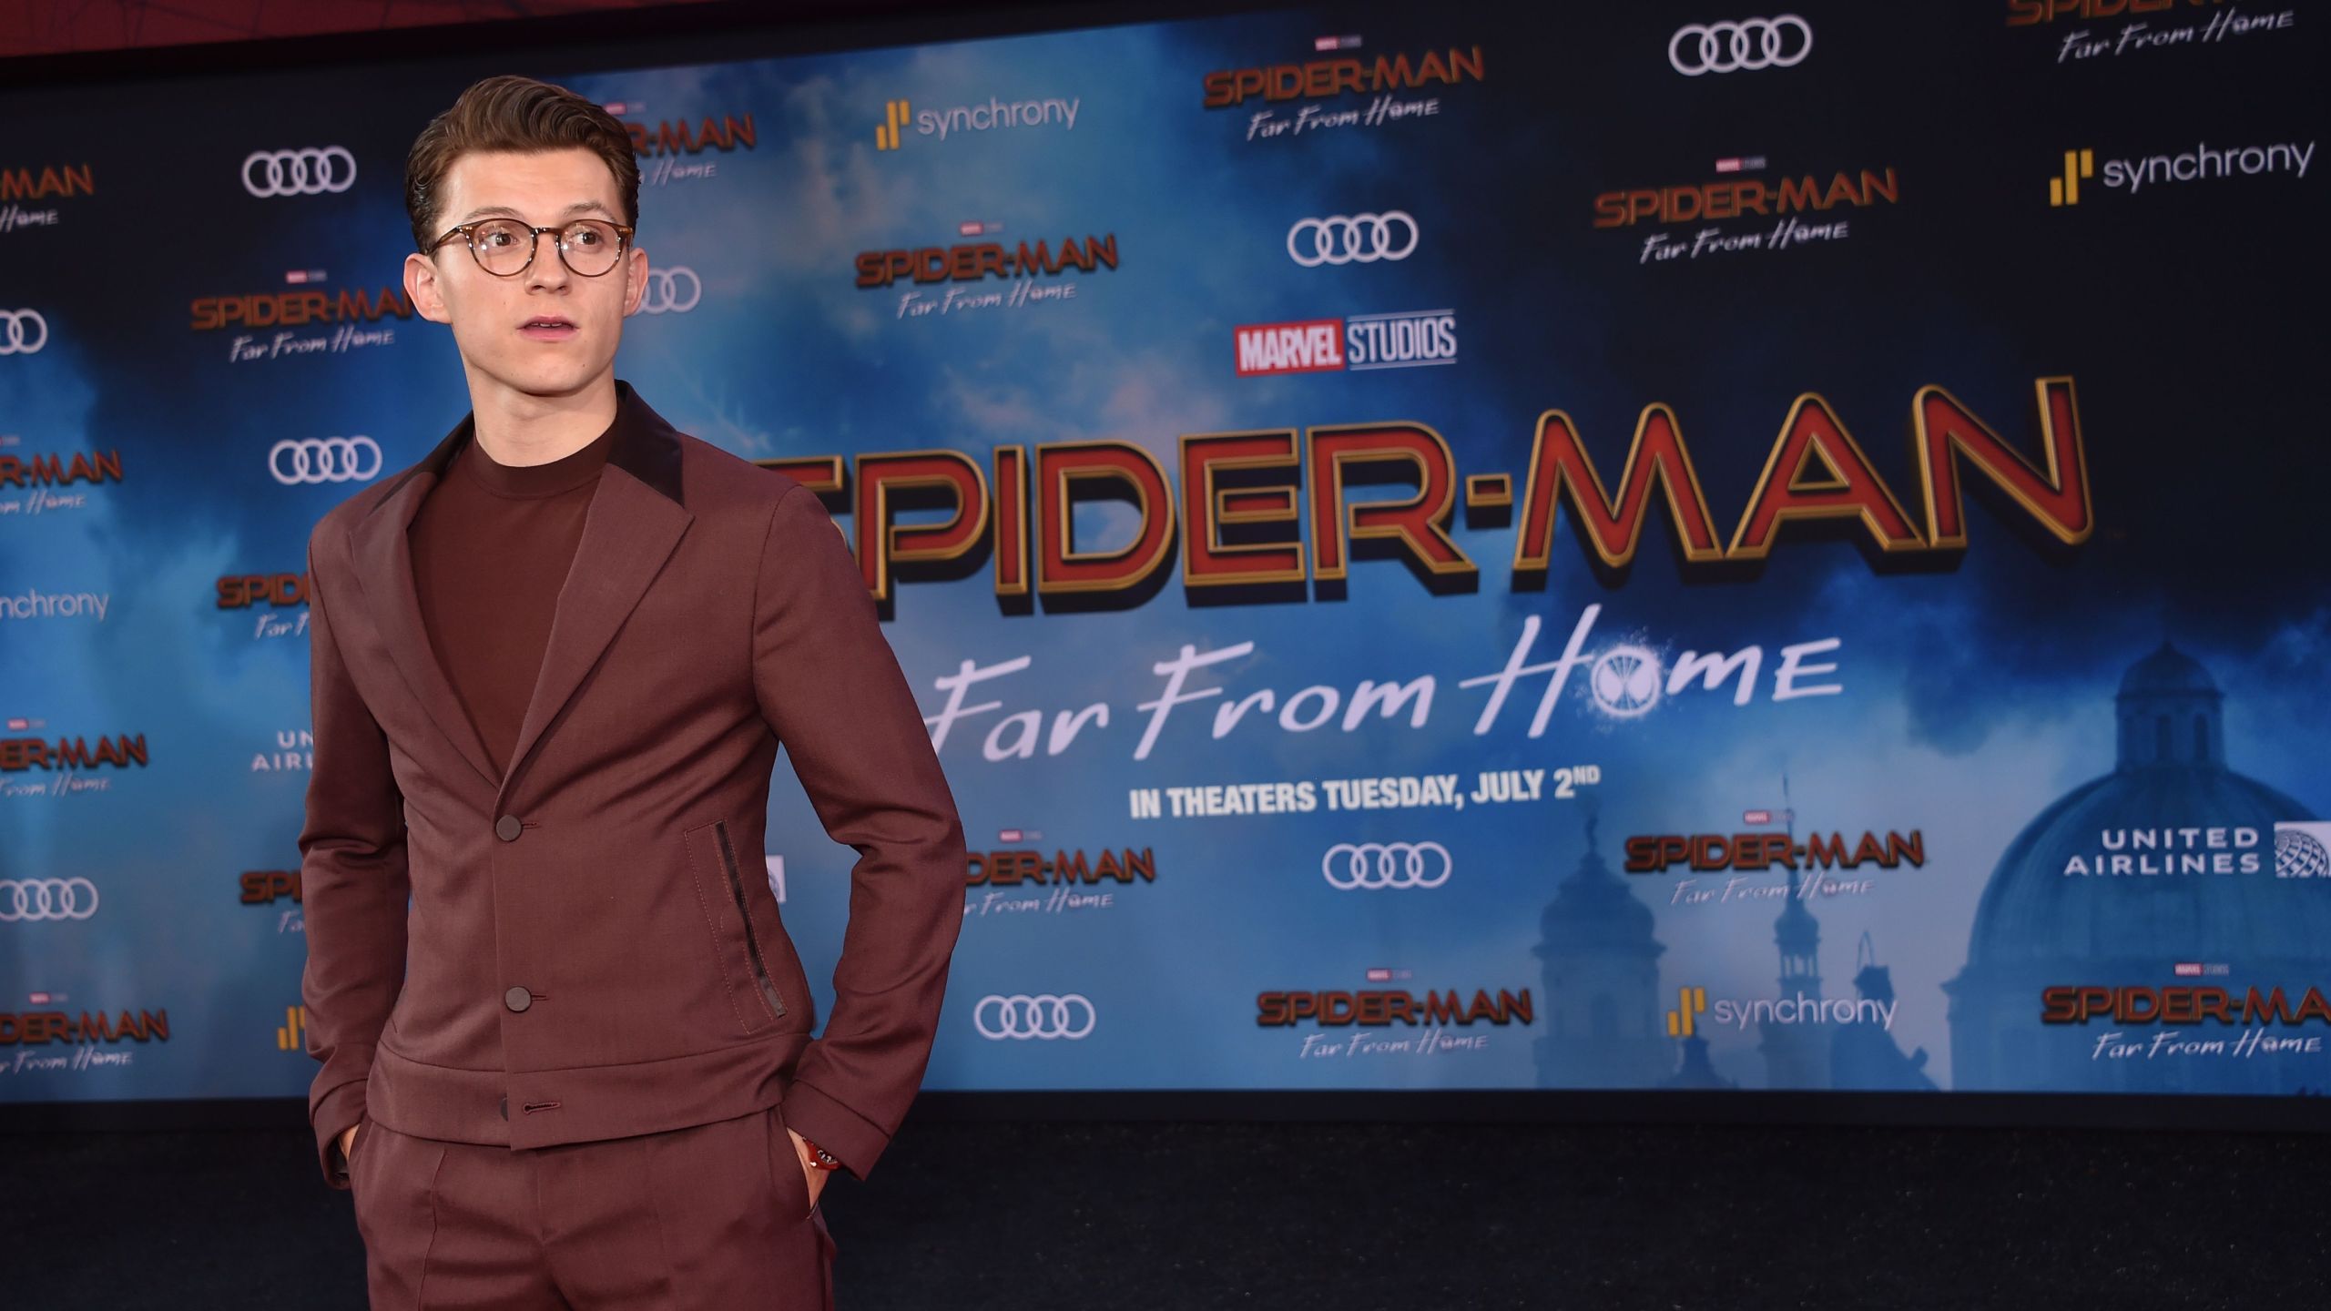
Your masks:
M2315 819L2291 795L2226 767L2224 693L2163 642L2121 676L2117 760L2007 844L1984 886L1951 996L1960 1089L2296 1092L2331 1085L2331 1052L2098 1059L2107 1031L2149 1043L2161 1024L2051 1026L2047 987L2322 984L2331 886L2277 877L2275 823ZM2177 966L2200 966L2200 977ZM2305 1029L2270 1026L2275 1036ZM2319 1026L2310 1026L2319 1029ZM2240 1024L2182 1026L2226 1038ZM2331 1047L2324 1036L2322 1047Z

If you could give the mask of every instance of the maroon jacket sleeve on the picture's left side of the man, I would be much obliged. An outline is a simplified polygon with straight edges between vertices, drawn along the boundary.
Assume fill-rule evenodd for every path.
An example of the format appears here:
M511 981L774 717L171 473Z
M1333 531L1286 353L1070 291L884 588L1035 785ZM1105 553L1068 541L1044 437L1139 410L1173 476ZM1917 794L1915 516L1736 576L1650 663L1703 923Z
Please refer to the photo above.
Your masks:
M326 532L322 525L317 534ZM298 835L301 907L308 921L308 1054L324 1061L308 1089L324 1180L347 1187L336 1138L364 1117L373 1047L406 977L403 793L389 772L389 739L357 695L331 628L338 593L317 569L308 537L308 700L315 767ZM338 586L333 581L331 586ZM361 1145L357 1148L364 1150Z

